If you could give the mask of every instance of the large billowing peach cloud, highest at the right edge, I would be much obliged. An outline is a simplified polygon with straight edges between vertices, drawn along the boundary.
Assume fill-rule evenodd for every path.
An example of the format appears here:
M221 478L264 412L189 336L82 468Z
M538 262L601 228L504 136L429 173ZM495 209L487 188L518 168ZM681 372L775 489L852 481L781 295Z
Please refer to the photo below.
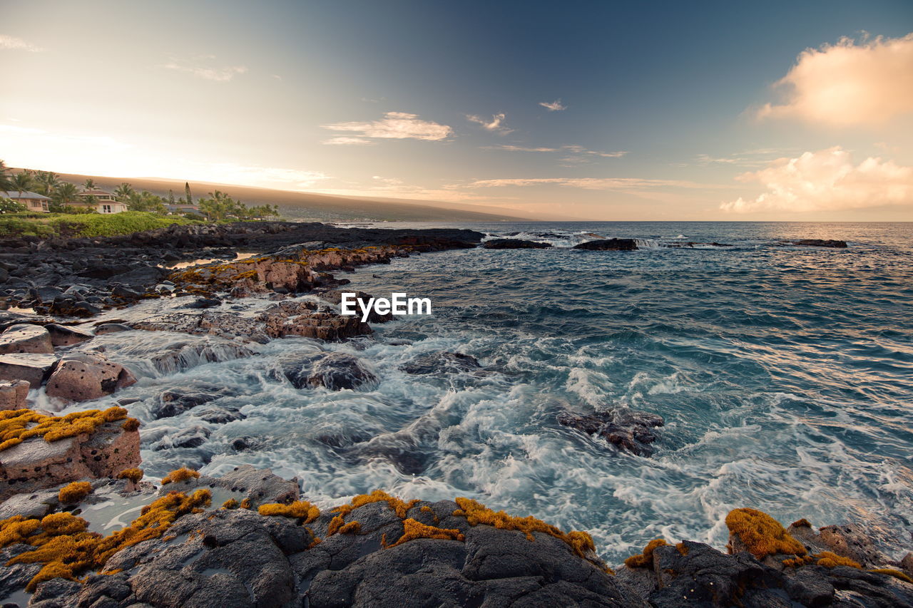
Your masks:
M795 118L831 126L873 125L913 112L913 34L803 51L774 85L781 104L767 103L759 118Z

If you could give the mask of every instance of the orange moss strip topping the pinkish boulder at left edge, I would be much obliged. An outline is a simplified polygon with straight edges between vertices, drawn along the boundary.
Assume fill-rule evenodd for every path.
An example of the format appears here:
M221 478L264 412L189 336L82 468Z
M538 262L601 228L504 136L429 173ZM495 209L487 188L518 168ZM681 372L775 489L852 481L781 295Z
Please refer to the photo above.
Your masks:
M52 442L77 435L91 435L101 425L123 420L127 410L86 410L65 416L48 416L29 409L0 412L0 451L18 446L26 439L44 437Z

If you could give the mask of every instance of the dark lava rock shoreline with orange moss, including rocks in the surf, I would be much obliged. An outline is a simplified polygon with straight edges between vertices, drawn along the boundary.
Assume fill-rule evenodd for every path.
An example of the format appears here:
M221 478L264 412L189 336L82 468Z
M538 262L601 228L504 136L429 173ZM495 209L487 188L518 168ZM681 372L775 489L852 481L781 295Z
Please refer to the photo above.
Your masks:
M585 531L468 498L428 502L379 489L318 508L301 496L298 479L253 466L222 477L181 468L155 486L143 480L142 428L130 416L131 400L57 416L30 399L43 387L47 399L76 404L135 383L105 354L103 336L119 331L187 335L150 353L160 370L244 358L286 336L363 339L371 323L390 316L368 323L341 316L334 305L347 281L331 272L474 247L482 237L261 223L0 242L5 306L37 313L0 315L0 606L913 606L913 555L890 561L853 525L815 529L800 519L784 528L737 508L726 519L726 548L657 539L622 565L606 564ZM590 243L578 248L636 248L631 239ZM836 246L823 243L802 246ZM271 253L238 258L243 251ZM167 267L199 258L221 261ZM293 297L302 294L315 299ZM247 315L221 306L240 298L263 305ZM183 305L142 320L90 320L144 299ZM456 352L403 369L488 373ZM377 381L339 352L289 354L275 373L296 388ZM194 409L216 424L243 415L208 404L220 391L174 387L153 415ZM638 456L650 455L663 425L656 414L623 407L561 412L557 422ZM199 429L159 442L202 443ZM238 451L245 441L236 438ZM414 466L408 454L398 458L404 471Z

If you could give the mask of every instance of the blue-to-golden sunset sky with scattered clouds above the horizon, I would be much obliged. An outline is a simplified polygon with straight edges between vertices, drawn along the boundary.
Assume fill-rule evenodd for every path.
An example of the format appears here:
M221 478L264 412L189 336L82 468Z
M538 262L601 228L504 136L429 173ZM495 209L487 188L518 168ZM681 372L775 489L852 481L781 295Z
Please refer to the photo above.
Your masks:
M913 221L913 2L0 0L13 167Z

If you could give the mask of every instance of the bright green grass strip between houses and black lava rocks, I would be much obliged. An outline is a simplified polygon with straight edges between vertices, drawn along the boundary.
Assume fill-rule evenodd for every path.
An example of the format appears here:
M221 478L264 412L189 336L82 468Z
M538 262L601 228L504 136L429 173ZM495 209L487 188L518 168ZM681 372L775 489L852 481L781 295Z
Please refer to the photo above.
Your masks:
M4 236L116 236L154 230L172 224L202 224L181 216L156 215L142 211L121 214L9 214L0 215L0 237Z

